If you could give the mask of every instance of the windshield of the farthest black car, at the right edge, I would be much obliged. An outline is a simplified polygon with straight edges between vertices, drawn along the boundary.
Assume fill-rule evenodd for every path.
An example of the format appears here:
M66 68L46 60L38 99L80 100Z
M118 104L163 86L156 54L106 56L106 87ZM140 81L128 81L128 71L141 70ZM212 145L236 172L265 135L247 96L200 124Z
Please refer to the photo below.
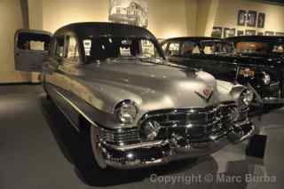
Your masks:
M244 54L284 54L284 43L266 43L266 42L239 42L237 43L237 52Z

